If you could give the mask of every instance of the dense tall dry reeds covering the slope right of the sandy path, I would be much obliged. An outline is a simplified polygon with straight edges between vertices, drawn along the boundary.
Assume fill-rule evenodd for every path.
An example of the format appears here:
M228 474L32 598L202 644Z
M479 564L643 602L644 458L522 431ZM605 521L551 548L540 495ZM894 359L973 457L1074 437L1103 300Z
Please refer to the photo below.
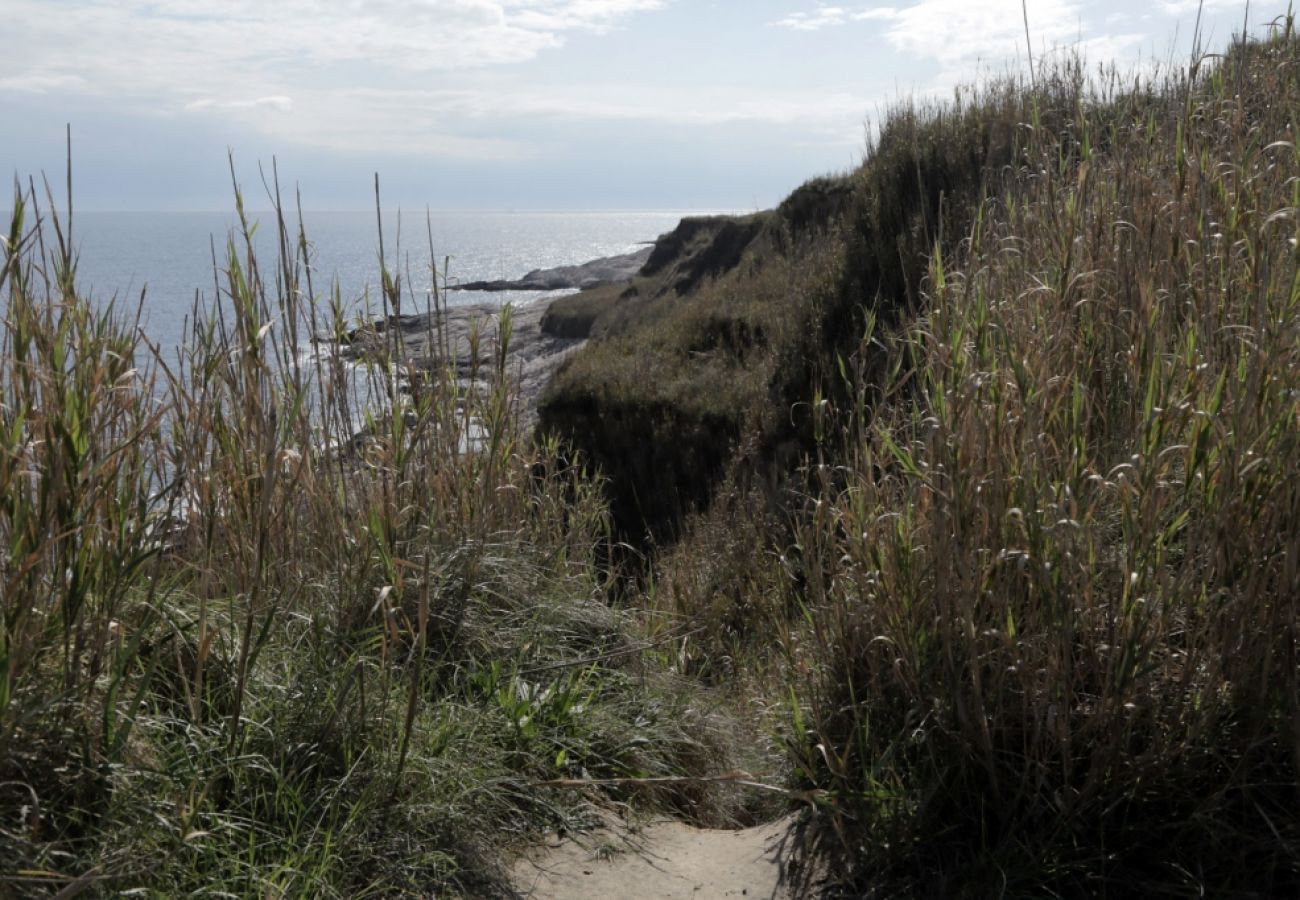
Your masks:
M845 359L789 550L793 758L855 890L1300 887L1297 66L1288 16L967 108L1026 113L1011 161Z

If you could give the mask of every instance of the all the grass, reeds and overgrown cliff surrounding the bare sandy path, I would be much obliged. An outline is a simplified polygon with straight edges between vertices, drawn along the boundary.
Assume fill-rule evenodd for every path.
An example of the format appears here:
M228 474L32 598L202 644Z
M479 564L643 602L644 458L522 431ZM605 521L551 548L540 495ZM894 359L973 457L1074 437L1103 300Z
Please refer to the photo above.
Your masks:
M508 312L488 391L304 365L281 215L162 360L17 191L0 883L491 896L593 804L776 812L745 767L809 895L1296 895L1297 118L1290 16L901 104L556 303L534 436Z

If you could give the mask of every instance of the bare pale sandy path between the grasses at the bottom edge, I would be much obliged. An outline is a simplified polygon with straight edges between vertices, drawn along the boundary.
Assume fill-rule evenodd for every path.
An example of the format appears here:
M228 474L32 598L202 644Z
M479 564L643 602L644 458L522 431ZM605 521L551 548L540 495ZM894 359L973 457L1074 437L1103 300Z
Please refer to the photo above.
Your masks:
M536 849L512 877L529 900L790 900L785 884L792 821L742 831L655 822Z

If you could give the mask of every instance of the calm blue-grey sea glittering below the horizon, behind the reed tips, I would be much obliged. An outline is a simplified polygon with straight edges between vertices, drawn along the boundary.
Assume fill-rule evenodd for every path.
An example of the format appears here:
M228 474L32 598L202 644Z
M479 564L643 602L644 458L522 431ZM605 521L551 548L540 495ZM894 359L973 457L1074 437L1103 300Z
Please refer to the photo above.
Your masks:
M684 215L699 211L655 212L438 212L433 213L433 254L438 271L450 258L448 281L517 278L532 269L585 263L636 250L671 230ZM276 260L274 218L261 220L256 234L263 272ZM369 297L377 306L378 226L373 212L303 215L311 245L315 290L326 298L337 280L344 303L360 312ZM217 265L225 267L225 246L234 213L213 212L78 212L74 243L81 252L78 282L92 298L117 297L134 307L144 293L144 330L164 347L179 343L196 293L204 306L217 295ZM399 245L400 238L400 245ZM429 230L424 213L386 215L384 250L424 303L430 285ZM224 286L222 286L224 290ZM450 294L451 304L534 300L542 294ZM406 311L406 310L404 310Z

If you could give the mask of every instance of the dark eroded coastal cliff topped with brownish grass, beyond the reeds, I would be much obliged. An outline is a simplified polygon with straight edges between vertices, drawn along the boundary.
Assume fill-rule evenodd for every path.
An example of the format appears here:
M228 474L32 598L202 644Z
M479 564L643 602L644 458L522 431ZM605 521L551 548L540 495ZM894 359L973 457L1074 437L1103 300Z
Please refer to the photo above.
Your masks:
M907 306L940 195L972 194L980 170L957 182L949 159L885 163L815 178L776 209L685 218L629 284L547 311L543 330L590 343L558 369L540 425L607 476L625 537L671 540L729 472L775 498L812 449L807 398L838 389L835 359L867 315ZM916 192L896 177L918 165L946 181ZM881 224L907 252L878 250Z

